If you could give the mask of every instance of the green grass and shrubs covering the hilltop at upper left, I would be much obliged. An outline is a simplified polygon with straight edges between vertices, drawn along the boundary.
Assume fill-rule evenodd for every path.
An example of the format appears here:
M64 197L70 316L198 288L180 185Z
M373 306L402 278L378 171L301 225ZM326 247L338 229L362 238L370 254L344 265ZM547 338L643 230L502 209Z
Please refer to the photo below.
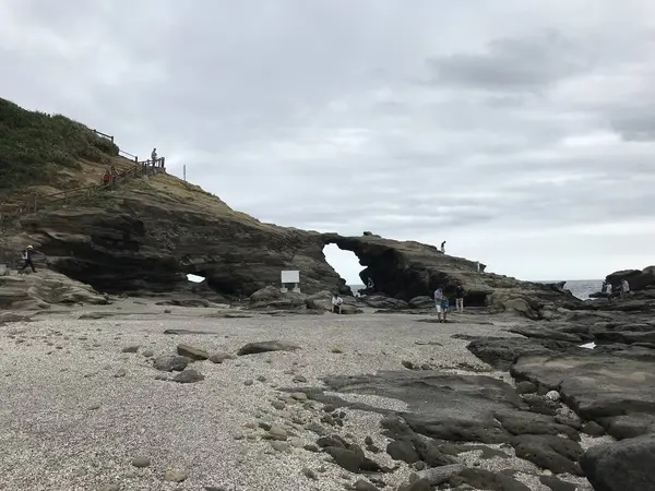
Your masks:
M57 182L61 167L107 164L118 146L61 115L28 111L0 98L0 197L26 185Z

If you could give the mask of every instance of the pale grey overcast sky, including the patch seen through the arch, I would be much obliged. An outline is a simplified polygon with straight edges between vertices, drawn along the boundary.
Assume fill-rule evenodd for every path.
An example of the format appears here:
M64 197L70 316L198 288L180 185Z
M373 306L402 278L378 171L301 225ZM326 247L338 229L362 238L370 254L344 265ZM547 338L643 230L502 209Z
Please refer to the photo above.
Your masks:
M0 67L262 220L524 279L655 263L653 0L2 0Z

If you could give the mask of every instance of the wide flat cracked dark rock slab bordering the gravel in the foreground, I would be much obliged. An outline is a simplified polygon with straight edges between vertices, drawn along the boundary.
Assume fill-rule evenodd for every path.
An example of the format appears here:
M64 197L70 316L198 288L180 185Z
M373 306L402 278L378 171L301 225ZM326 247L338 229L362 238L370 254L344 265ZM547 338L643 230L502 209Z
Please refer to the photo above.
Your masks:
M581 474L577 432L550 416L523 410L527 406L521 397L498 379L403 371L333 376L325 384L337 393L382 396L408 405L408 411L397 414L401 418L382 421L385 435L395 441L386 448L394 459L445 465L452 462L439 441L509 443L523 458L555 474Z

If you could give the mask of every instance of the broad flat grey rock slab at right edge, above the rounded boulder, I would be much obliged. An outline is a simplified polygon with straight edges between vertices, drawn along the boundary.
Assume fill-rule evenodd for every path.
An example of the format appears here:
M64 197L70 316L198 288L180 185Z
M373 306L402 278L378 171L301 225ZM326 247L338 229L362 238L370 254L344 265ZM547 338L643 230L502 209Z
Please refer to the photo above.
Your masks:
M655 416L655 363L651 361L611 355L522 357L512 375L559 390L583 419L597 421L616 438L624 438L619 429L629 426L628 416L642 415L632 419L646 427L648 415Z

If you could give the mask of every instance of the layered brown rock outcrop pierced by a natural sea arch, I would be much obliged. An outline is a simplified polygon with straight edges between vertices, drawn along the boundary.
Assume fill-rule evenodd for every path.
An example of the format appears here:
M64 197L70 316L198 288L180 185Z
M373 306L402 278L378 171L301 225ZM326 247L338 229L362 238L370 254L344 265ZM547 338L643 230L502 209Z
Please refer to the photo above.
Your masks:
M20 250L33 243L58 272L106 292L191 291L198 288L187 279L192 273L206 278L207 300L215 301L207 290L235 299L275 289L281 271L298 270L302 294L349 296L323 254L323 248L334 243L359 258L362 280L374 283L369 303L384 308L431 297L438 285L452 296L455 283L465 288L467 306L488 304L529 319L539 319L553 302L580 303L560 285L484 273L484 265L478 272L476 262L443 254L433 246L263 224L172 176L132 181L100 197L23 218L17 229L22 232L12 235L8 247Z

